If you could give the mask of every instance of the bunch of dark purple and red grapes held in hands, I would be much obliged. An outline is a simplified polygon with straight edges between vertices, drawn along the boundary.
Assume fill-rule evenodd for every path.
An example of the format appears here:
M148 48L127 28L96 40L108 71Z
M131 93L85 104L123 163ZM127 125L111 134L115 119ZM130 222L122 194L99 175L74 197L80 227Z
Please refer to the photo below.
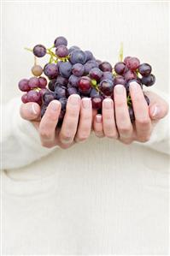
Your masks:
M140 64L137 57L126 57L124 61L121 57L121 61L113 68L110 63L94 57L91 51L82 51L78 46L68 48L67 39L62 36L57 37L49 49L44 45L35 45L33 49L27 50L32 51L35 63L32 67L33 77L19 82L20 90L25 92L21 100L23 103L38 103L41 106L41 116L44 116L50 101L59 100L62 105L59 125L62 124L67 98L71 94L91 98L92 108L102 113L103 99L114 97L116 85L123 85L126 88L129 115L133 122L135 116L129 93L130 82L136 81L141 88L155 83L151 66L148 63ZM45 55L49 55L50 60L42 68L36 60L37 57ZM144 98L149 104L149 98L146 95Z

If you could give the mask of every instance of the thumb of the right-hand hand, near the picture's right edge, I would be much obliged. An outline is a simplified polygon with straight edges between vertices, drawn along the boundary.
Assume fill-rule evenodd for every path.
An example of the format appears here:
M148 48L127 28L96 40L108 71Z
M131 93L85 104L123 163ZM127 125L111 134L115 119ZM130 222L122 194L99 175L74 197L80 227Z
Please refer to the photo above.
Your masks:
M167 115L167 104L153 104L149 107L149 116L152 120L159 120Z

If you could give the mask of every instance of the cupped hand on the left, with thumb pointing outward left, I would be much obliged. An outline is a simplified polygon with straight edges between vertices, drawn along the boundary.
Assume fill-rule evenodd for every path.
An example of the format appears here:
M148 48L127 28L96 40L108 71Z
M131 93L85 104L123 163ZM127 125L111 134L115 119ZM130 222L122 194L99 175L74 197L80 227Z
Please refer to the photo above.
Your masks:
M62 128L56 128L61 111L58 100L50 102L43 118L40 120L40 107L36 103L21 105L21 117L32 122L37 128L42 146L60 146L64 149L74 142L84 141L91 134L92 108L91 99L80 99L78 94L67 100L67 109Z

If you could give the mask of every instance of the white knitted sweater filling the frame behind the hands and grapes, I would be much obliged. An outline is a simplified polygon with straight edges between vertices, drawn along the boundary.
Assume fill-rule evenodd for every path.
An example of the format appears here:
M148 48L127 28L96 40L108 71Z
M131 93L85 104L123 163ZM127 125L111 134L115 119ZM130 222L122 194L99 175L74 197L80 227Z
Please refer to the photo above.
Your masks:
M126 55L151 63L166 98L167 34L167 3L3 3L3 255L168 253L169 117L144 144L91 134L46 149L17 97L33 59L23 46L65 35L113 63L124 41Z

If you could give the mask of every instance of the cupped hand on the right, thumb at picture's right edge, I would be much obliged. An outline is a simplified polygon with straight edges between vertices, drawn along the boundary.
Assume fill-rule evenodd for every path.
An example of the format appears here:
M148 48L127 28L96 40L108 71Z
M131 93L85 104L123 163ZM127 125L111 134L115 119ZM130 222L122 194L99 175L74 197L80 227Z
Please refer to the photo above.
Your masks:
M144 92L135 82L131 83L130 94L135 113L135 123L132 124L128 113L125 87L115 86L114 102L111 98L104 99L103 116L95 116L93 127L98 137L119 138L125 144L130 144L134 140L139 142L149 140L155 123L167 115L168 104L154 92L145 92L150 100L148 106Z

